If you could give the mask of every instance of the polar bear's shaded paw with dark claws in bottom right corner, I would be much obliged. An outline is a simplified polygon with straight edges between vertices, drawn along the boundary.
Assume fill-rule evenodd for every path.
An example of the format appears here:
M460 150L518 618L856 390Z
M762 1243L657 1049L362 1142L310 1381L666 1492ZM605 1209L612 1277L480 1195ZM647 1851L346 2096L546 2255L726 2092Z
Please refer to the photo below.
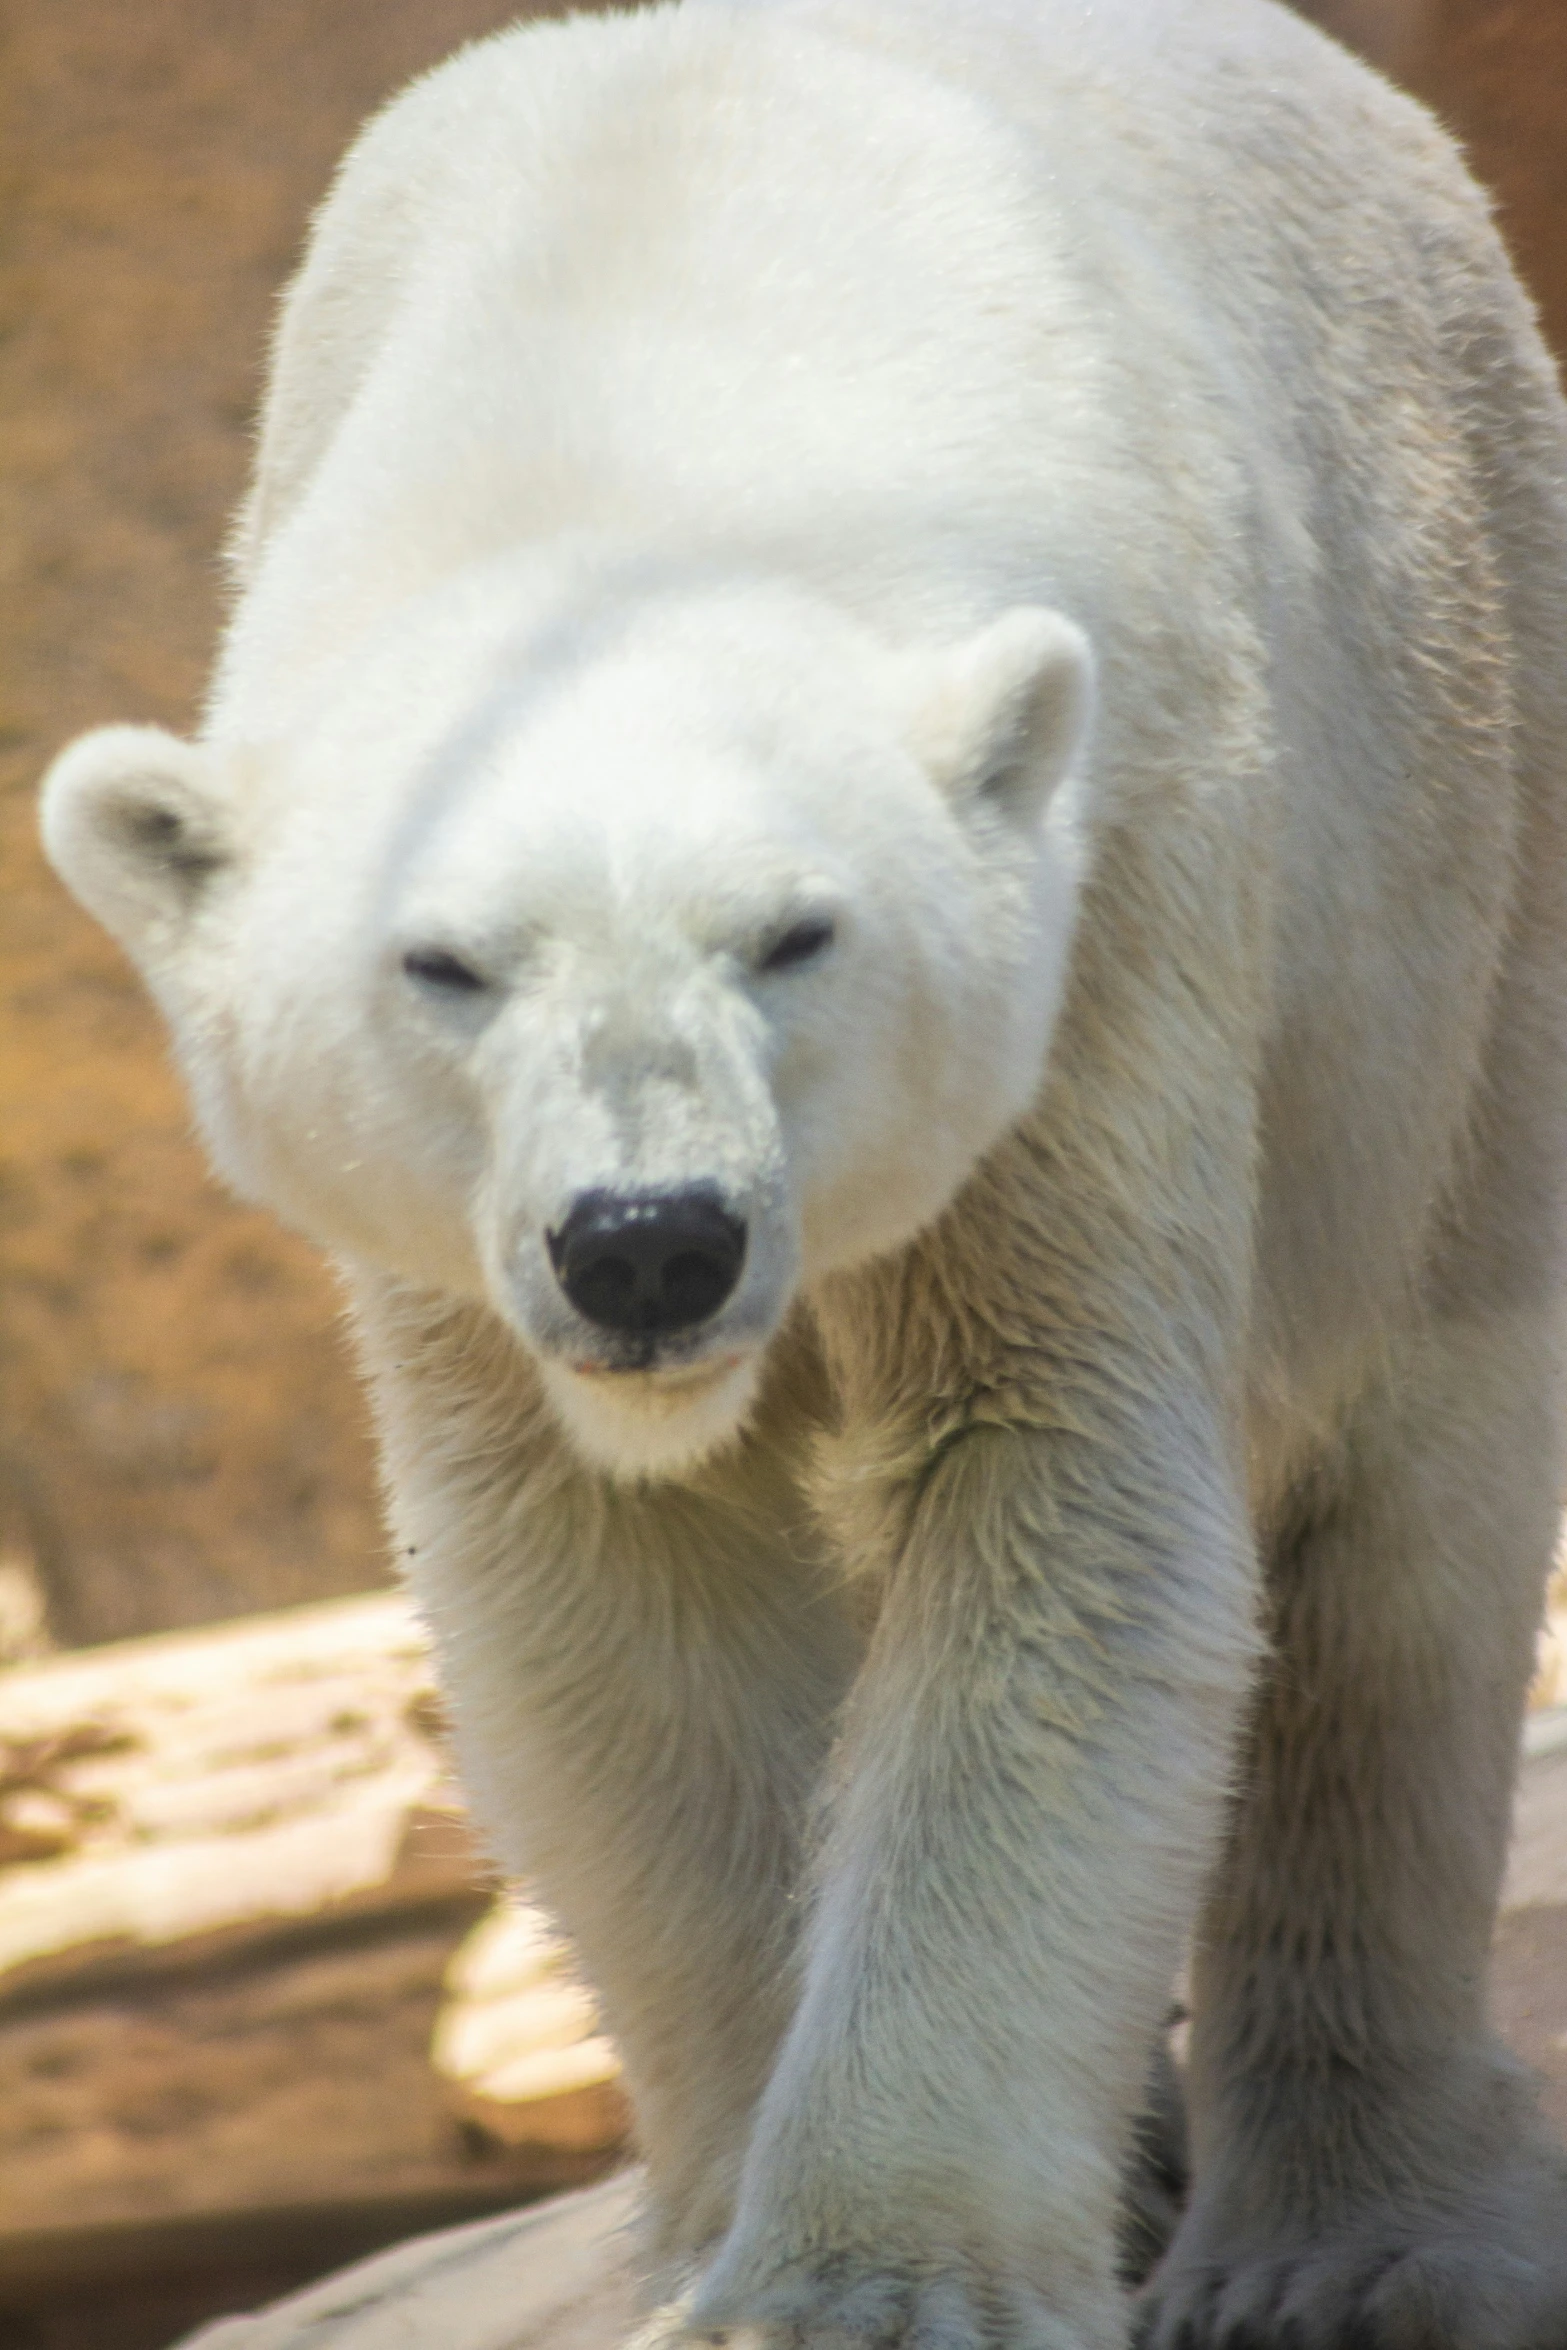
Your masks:
M1290 2242L1191 2214L1142 2296L1137 2350L1567 2350L1567 2171Z

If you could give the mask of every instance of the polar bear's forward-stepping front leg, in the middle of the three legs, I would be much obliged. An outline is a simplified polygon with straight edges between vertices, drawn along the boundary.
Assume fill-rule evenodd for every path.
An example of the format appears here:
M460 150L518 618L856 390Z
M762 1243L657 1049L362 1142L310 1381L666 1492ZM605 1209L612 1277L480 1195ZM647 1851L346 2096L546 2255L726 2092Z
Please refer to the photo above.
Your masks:
M904 1365L975 1335L930 1328L933 1262L843 1302ZM1149 1330L1121 1351L1104 1290L1092 1335L1017 1344L1017 1297L984 1394L949 1391L937 1434L928 1396L921 1426L883 1391L827 1495L850 1556L886 1560L883 1610L801 2005L684 2319L747 2350L1125 2338L1118 2171L1219 1828L1255 1579L1201 1365Z

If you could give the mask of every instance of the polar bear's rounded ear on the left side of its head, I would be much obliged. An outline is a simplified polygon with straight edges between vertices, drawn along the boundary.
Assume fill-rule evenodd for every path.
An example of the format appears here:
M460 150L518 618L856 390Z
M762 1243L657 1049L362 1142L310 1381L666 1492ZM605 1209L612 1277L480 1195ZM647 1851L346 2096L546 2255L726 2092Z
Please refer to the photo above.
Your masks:
M99 726L59 754L42 837L61 881L132 954L169 945L233 851L211 754L162 726Z

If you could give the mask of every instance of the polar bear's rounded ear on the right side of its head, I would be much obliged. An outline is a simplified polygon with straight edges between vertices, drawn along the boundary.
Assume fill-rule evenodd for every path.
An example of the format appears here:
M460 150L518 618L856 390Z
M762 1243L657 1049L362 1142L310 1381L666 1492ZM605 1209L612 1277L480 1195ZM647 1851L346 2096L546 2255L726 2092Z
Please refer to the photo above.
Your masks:
M1088 738L1095 660L1060 611L1020 604L919 665L912 750L954 797L1031 825Z

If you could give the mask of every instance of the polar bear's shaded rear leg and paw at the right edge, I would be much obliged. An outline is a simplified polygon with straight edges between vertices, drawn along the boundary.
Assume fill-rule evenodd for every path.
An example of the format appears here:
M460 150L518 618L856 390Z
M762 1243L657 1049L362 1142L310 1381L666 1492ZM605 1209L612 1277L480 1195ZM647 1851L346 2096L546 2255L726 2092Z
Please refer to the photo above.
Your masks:
M1151 2350L1567 2343L1567 2155L1485 2014L1560 1513L1541 1255L1386 1349L1271 1544L1278 1661L1196 1943L1196 2190Z

